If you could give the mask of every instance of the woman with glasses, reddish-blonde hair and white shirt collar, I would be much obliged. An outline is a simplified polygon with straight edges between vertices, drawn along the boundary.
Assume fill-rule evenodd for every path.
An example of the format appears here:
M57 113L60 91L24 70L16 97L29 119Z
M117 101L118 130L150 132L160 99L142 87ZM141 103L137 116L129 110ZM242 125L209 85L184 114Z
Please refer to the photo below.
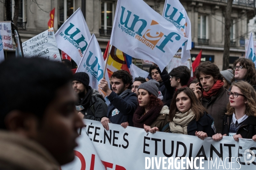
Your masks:
M217 133L212 139L219 141L222 136L233 136L256 141L256 92L253 87L244 81L235 82L228 92L229 103L227 113L223 119L223 135Z

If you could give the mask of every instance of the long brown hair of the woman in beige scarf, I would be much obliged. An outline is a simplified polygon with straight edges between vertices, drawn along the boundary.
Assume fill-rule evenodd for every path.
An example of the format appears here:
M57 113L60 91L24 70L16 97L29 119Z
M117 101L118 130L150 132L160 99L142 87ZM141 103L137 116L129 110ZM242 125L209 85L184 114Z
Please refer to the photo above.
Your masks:
M203 116L204 112L207 112L207 111L204 108L204 106L201 104L199 99L195 96L194 92L188 87L180 88L175 92L170 105L169 121L172 122L176 112L179 111L176 106L176 97L181 92L184 92L187 96L189 96L189 99L191 101L191 110L195 113L195 120L198 121L200 117Z

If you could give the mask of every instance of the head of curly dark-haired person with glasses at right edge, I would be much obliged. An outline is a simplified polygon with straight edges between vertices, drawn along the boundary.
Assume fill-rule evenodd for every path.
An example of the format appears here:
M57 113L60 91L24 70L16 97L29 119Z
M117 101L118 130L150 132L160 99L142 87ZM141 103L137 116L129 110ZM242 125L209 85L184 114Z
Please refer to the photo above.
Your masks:
M233 64L233 79L231 82L243 80L248 82L256 90L256 70L250 59L239 58Z

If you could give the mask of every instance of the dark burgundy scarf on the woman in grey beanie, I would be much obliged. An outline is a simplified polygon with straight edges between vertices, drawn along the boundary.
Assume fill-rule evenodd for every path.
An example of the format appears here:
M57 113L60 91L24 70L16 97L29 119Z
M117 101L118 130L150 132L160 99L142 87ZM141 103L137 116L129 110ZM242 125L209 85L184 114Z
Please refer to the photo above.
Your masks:
M157 119L162 108L163 103L161 105L155 105L144 115L145 108L139 106L134 112L132 119L134 127L144 128L144 124L150 126Z

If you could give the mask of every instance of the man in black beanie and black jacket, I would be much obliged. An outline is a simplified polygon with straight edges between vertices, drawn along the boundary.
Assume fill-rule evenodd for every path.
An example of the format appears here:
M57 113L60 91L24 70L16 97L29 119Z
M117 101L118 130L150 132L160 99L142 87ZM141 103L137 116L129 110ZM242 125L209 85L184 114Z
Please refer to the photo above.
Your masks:
M87 73L78 72L73 75L73 90L79 96L76 110L81 118L100 121L107 116L108 106L103 96L96 89L92 89L89 83Z

